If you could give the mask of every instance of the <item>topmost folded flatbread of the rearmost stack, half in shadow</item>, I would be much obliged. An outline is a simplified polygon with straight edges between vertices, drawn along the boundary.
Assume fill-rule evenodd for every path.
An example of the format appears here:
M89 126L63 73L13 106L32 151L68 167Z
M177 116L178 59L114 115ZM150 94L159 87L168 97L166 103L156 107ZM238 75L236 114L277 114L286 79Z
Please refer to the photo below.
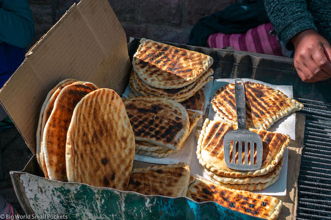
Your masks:
M181 88L197 80L213 64L213 58L197 51L186 50L171 45L142 39L133 57L132 65L138 76L148 85L155 88ZM157 67L160 72L147 66ZM152 68L152 70L151 70ZM155 73L148 75L149 73ZM169 79L169 74L178 76ZM157 75L158 74L158 75ZM185 83L186 81L186 83Z

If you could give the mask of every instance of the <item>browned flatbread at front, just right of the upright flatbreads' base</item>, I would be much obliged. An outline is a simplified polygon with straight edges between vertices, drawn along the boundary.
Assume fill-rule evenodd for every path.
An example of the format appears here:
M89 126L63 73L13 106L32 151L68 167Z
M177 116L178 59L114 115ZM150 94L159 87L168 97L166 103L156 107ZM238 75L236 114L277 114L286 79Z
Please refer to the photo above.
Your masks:
M127 191L145 195L186 196L190 168L185 163L133 169Z

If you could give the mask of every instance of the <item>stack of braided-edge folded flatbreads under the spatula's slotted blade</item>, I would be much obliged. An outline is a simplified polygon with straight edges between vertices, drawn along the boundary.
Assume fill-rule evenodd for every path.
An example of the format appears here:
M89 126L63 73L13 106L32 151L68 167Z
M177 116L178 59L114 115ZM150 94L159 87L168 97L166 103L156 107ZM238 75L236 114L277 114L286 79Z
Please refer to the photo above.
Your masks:
M262 166L255 171L238 171L226 166L223 151L225 134L235 129L236 126L229 122L210 121L207 118L198 140L199 163L205 168L210 178L219 185L237 190L261 191L278 180L284 162L283 154L290 138L288 135L280 133L250 129L262 139ZM244 153L243 151L242 158L244 158ZM248 154L250 154L250 150Z

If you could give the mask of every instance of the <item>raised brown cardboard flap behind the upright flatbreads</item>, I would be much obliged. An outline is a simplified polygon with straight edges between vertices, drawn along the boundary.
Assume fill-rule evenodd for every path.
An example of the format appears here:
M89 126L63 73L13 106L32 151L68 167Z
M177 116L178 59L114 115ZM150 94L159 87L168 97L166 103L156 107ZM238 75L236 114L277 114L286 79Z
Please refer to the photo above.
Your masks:
M48 91L66 78L122 93L131 68L126 36L107 0L82 0L27 53L0 90L0 102L36 153L36 130Z

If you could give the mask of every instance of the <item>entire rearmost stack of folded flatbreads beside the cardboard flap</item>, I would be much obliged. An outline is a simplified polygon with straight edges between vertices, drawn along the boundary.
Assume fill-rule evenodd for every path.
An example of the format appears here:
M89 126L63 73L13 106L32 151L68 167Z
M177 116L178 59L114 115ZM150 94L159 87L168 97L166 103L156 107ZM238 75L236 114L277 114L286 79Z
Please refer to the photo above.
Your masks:
M203 53L143 38L132 59L129 97L183 102L212 80L212 64L213 58Z

